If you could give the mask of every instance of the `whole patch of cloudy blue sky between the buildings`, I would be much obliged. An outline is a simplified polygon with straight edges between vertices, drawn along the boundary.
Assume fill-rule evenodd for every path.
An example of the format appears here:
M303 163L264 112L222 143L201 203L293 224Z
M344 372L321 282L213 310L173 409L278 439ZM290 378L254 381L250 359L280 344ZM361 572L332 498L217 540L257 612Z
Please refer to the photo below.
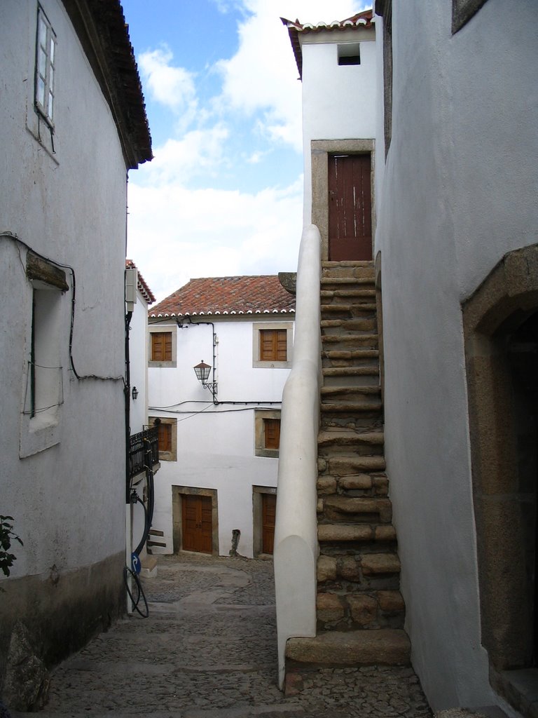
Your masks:
M280 17L359 0L122 0L154 160L129 174L128 257L157 299L190 278L295 271L301 83Z

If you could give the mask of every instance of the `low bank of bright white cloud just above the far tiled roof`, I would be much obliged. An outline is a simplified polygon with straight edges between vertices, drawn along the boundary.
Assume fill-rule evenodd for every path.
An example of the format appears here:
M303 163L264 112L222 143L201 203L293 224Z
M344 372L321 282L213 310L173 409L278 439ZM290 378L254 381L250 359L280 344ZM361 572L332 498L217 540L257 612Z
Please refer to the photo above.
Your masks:
M302 180L285 190L129 185L128 256L157 299L192 277L295 271Z

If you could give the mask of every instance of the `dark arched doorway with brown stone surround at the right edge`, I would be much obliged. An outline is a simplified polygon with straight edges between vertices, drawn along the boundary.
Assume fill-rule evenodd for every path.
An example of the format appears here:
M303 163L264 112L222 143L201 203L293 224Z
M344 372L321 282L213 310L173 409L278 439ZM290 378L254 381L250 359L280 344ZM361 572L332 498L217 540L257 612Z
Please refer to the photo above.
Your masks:
M463 304L481 633L494 689L538 665L538 246L512 251ZM519 673L519 676L516 675Z

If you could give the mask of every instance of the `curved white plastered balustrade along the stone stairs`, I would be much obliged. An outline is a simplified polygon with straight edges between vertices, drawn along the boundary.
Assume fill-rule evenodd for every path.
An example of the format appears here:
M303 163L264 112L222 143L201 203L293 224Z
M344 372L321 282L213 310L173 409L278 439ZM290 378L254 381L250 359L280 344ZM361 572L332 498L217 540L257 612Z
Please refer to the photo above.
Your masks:
M318 228L308 225L303 229L299 250L293 360L280 420L273 551L280 688L288 638L316 635L320 276L321 238Z

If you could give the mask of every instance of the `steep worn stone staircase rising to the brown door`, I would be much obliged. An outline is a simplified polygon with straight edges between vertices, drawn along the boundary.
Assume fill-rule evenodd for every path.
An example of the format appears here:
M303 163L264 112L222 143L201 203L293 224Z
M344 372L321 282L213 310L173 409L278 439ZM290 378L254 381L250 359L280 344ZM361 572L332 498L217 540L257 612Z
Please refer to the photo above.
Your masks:
M286 684L327 666L407 665L400 561L384 472L370 262L323 262L316 638L286 645Z

